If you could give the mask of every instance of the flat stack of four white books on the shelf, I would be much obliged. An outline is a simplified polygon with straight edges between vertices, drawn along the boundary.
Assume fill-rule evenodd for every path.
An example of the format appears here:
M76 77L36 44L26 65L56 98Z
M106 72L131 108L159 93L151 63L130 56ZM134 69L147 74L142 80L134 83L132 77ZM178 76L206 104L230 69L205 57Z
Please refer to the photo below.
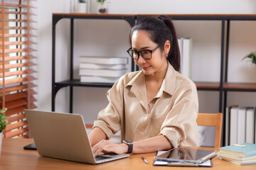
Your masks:
M127 73L127 57L80 56L79 74L82 82L114 83Z

